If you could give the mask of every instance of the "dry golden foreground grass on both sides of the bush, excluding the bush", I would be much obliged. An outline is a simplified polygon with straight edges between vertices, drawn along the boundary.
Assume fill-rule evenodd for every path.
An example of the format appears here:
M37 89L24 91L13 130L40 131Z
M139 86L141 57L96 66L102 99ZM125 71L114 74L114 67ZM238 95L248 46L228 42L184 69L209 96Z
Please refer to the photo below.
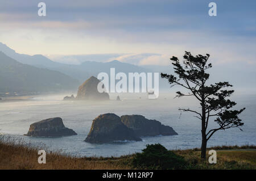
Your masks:
M256 146L217 146L217 163L200 158L200 149L174 150L185 158L185 169L256 169ZM133 155L110 158L76 158L47 152L46 164L38 163L38 149L0 139L0 169L137 169ZM209 157L209 155L208 155Z

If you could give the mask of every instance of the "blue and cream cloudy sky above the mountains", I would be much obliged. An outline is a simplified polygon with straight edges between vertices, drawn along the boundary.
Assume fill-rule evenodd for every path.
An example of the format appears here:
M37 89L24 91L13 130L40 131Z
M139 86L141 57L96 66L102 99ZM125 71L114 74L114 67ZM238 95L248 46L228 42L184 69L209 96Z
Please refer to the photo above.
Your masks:
M38 3L46 16L38 16ZM217 16L209 16L210 2ZM216 64L256 66L256 1L0 0L0 42L18 53L79 64L101 55L135 65L168 65L184 51ZM68 56L67 56L68 55Z

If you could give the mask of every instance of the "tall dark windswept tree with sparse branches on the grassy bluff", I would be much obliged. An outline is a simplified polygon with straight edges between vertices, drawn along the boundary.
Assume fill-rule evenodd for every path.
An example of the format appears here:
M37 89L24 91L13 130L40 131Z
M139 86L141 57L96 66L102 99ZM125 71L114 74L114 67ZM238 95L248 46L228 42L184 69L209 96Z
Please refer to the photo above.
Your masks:
M181 111L189 111L196 114L196 117L201 120L201 158L206 158L207 141L218 130L225 130L228 128L238 127L240 128L243 123L238 118L238 115L245 110L230 110L236 105L228 99L228 97L234 92L234 90L223 90L226 87L232 87L228 82L218 82L213 85L207 85L209 74L206 73L207 69L212 68L212 64L208 64L209 54L202 56L192 56L190 52L185 52L183 58L183 65L177 57L172 57L172 65L174 65L174 75L168 75L161 73L162 78L168 79L168 82L174 86L179 85L189 90L187 94L180 91L176 92L177 97L182 96L195 96L200 102L201 111L193 111L188 109L179 109ZM215 122L218 124L217 128L207 130L210 117L215 117Z

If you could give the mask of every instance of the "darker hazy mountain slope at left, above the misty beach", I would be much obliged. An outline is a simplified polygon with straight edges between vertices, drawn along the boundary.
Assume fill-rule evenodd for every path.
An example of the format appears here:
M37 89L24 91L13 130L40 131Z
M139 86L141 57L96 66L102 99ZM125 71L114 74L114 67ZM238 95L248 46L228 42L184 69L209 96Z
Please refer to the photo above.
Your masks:
M58 71L21 64L0 51L0 92L47 92L73 90L76 79Z

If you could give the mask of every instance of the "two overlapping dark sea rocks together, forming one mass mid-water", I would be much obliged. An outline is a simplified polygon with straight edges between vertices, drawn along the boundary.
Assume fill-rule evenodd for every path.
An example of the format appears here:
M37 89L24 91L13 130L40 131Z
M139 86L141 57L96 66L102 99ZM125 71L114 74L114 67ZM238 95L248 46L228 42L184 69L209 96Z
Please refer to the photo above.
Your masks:
M175 135L172 127L142 115L117 116L114 113L100 115L93 120L86 142L141 141L141 136Z

